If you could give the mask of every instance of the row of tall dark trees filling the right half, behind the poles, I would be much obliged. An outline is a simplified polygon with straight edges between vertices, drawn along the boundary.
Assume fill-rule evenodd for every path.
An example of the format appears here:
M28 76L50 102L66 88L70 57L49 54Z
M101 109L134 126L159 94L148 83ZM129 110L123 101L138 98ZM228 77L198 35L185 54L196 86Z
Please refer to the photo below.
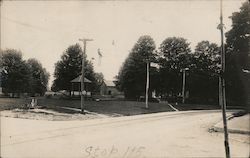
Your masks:
M189 102L218 103L218 76L226 80L226 95L230 104L249 104L250 76L250 9L242 4L233 13L232 29L226 35L226 72L221 73L220 47L207 40L199 42L192 52L190 43L182 37L168 37L156 49L154 40L141 36L117 75L117 87L128 99L145 95L146 62L158 63L150 67L150 89L167 99L176 99L182 89L182 70L188 68L186 90ZM219 32L218 32L219 33ZM246 71L244 71L246 70Z

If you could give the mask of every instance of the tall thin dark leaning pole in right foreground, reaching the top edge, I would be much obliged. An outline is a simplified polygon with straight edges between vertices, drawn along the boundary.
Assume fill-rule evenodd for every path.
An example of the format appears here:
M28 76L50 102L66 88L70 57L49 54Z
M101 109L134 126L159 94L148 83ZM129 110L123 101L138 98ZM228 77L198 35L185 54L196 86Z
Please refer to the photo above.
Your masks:
M219 103L222 109L223 126L224 126L224 145L226 158L230 158L230 148L228 142L227 118L226 118L226 92L225 92L225 48L224 48L224 33L223 33L223 16L222 16L222 0L220 0L220 24L218 29L221 32L221 74L219 78Z

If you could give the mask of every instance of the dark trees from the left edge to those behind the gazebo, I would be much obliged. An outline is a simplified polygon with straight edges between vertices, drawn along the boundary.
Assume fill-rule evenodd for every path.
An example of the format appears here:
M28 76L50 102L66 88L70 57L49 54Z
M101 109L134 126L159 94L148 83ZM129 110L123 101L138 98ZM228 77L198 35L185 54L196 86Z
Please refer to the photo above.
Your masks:
M15 49L6 49L1 53L1 86L3 93L12 94L12 96L44 95L47 91L49 73L42 64L32 58L23 60L22 52ZM51 87L52 91L79 90L78 87L72 89L71 80L81 75L82 67L82 48L79 44L70 45L61 55L61 59L55 63L54 81ZM104 80L102 73L95 73L93 63L84 56L85 77L92 83L89 90L98 93Z

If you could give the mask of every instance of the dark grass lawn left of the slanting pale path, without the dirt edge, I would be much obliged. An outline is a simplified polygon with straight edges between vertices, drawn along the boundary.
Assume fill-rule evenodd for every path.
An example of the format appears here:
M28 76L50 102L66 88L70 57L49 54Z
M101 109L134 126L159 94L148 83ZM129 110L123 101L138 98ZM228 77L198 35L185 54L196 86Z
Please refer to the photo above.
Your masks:
M0 98L0 111L22 109L25 104L29 104L31 98ZM48 99L38 98L38 105L59 113L75 114L79 113L60 107L81 108L80 100ZM167 103L149 103L149 108L145 108L144 102L136 101L85 101L85 110L106 116L130 116L156 112L174 111Z

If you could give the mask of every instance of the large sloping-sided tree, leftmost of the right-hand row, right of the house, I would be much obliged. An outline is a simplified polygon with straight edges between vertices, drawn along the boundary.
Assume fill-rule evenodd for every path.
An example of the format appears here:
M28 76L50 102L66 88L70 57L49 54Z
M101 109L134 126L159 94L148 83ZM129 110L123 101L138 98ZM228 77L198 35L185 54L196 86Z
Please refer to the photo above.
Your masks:
M154 50L154 40L148 35L141 36L123 63L117 77L117 85L124 91L126 98L137 99L140 95L145 95L146 62L155 60ZM150 78L152 79L152 76ZM154 88L153 83L152 79L150 91Z

